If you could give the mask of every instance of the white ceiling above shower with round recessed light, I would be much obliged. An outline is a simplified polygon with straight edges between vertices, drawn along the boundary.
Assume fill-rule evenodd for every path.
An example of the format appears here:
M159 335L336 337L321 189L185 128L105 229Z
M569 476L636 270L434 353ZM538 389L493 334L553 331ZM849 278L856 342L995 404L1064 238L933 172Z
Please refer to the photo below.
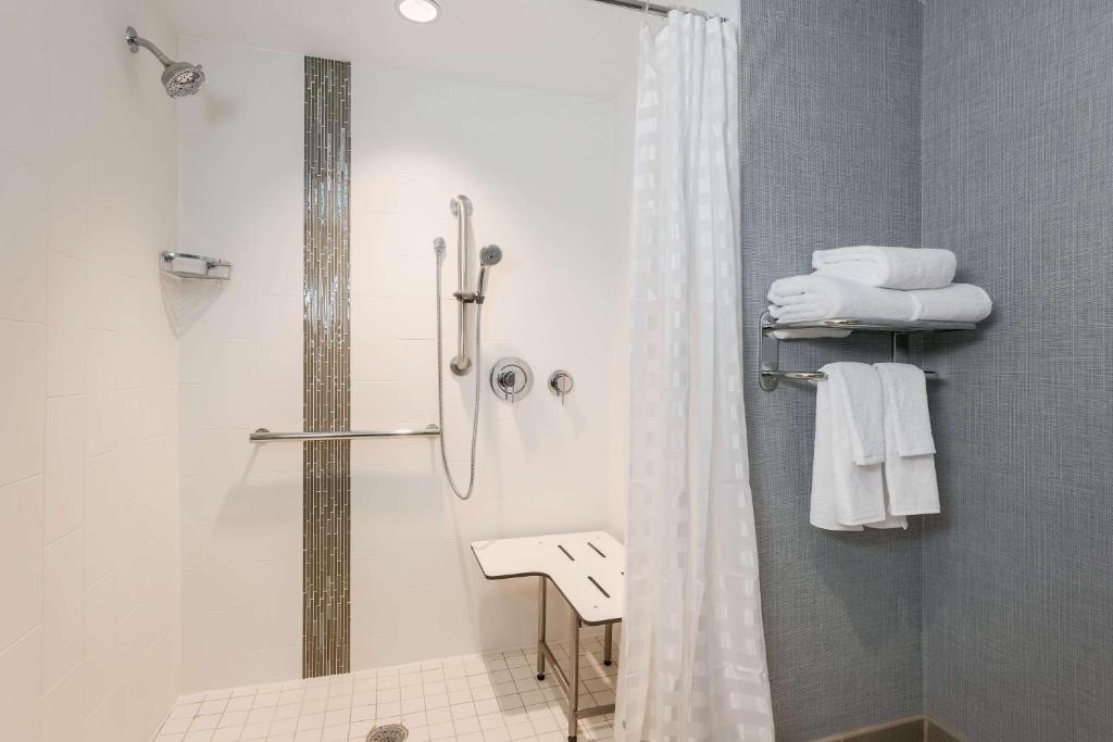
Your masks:
M440 0L417 24L394 0L158 1L184 36L588 96L633 80L642 17L590 0Z

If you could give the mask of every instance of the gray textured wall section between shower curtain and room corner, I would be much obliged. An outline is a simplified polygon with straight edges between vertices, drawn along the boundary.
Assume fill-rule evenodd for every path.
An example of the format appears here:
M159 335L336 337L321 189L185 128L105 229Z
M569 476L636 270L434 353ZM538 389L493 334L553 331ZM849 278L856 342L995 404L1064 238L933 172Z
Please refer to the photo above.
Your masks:
M742 0L747 418L778 739L922 711L920 543L808 525L815 393L758 389L769 283L817 248L916 246L918 0ZM883 358L880 338L792 344L796 367Z

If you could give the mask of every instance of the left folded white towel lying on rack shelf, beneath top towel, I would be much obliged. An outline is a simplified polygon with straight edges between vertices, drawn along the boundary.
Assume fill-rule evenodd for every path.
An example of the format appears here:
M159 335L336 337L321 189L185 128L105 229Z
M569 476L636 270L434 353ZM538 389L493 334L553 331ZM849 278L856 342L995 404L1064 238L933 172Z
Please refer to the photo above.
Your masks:
M775 280L768 298L772 303L769 314L784 323L834 318L912 321L916 315L908 291L816 274Z

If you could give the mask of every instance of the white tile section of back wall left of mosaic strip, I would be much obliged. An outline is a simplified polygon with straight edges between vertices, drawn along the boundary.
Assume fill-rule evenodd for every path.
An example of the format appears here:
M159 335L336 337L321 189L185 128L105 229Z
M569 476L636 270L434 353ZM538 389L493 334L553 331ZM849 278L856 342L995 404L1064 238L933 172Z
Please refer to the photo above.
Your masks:
M204 105L179 108L180 246L234 263L180 287L183 683L301 675L303 61L196 39Z

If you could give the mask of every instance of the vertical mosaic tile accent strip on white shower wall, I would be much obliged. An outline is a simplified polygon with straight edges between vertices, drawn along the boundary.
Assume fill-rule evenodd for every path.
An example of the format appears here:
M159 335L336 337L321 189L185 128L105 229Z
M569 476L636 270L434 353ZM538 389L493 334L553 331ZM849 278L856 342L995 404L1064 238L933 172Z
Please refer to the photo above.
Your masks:
M308 432L351 425L348 62L305 58L305 397ZM348 672L351 442L307 442L302 674Z

